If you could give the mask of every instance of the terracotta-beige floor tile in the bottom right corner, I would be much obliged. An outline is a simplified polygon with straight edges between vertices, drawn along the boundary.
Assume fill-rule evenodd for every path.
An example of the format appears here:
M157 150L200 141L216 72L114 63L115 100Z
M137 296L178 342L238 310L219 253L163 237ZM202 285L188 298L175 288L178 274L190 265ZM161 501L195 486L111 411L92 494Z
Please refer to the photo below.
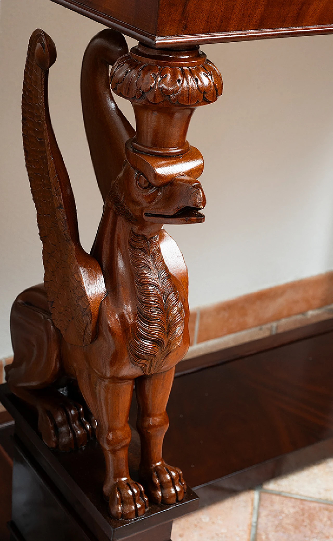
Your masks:
M264 492L260 494L256 541L332 539L333 505Z

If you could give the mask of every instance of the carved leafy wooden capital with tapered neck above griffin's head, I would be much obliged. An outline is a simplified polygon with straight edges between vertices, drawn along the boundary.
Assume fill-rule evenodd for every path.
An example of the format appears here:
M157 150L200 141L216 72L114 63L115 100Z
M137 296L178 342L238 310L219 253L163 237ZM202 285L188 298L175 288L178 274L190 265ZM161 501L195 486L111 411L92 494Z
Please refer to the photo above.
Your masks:
M189 150L186 136L195 108L215 102L222 94L221 74L198 46L176 51L139 44L114 64L110 84L133 105L132 147L163 156Z

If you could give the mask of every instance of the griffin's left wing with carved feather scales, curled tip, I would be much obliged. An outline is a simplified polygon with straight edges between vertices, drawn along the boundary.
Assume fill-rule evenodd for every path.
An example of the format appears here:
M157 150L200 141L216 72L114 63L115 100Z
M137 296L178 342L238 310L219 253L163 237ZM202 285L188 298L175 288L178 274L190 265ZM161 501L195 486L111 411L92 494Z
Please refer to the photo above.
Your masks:
M51 126L47 80L55 60L54 42L35 30L24 70L23 147L52 320L67 342L86 346L95 338L99 306L107 292L101 267L79 242L74 196Z

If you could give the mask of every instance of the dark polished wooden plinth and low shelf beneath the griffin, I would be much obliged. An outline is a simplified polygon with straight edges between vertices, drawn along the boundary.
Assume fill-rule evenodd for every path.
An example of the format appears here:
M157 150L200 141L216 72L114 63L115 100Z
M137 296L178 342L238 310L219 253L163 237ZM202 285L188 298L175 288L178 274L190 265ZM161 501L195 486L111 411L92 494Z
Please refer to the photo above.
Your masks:
M177 376L164 458L181 467L198 492L211 483L247 489L333 456L333 320L184 361ZM151 506L132 523L111 520L97 441L71 453L51 452L34 413L6 385L0 399L16 421L13 539L21 540L24 530L25 541L169 541L172 520L196 509L189 489L182 504ZM132 425L135 418L134 399ZM134 479L138 461L133 430Z

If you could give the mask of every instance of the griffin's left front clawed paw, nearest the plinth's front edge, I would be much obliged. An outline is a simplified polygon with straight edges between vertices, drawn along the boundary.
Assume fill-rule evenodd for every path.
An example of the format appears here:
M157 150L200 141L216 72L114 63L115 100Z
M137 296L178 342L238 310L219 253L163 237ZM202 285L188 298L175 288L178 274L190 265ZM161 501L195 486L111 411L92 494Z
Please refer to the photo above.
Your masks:
M131 520L141 517L148 509L143 487L131 479L120 480L111 488L109 511L112 518Z

